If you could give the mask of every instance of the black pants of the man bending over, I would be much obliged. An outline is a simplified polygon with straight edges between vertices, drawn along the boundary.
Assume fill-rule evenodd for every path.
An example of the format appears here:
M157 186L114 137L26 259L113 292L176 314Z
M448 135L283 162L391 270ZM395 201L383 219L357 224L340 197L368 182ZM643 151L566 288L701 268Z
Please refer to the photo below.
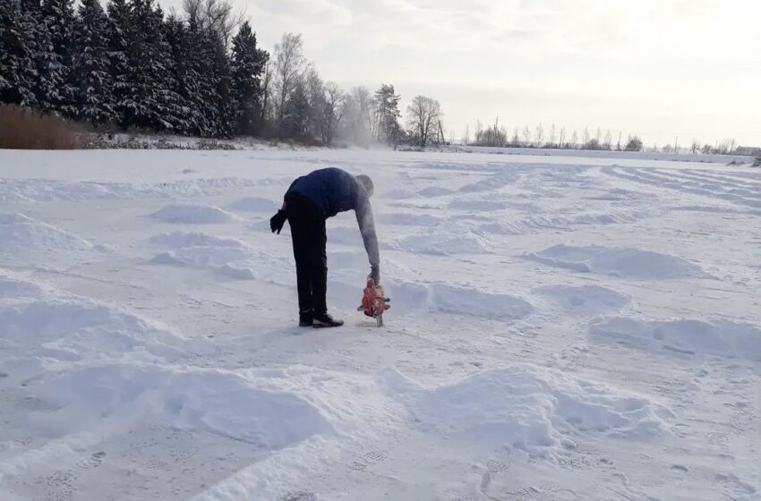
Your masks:
M328 255L325 216L312 200L297 193L286 195L286 216L291 226L296 261L299 312L321 315L328 311Z

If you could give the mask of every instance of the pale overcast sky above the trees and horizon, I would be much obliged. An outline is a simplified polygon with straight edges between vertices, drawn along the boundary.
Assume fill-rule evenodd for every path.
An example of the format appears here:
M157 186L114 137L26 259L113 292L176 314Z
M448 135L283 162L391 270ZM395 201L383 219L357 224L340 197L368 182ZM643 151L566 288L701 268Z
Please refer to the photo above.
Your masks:
M761 145L761 0L233 1L262 47L301 32L325 80L437 98L457 138L499 116Z

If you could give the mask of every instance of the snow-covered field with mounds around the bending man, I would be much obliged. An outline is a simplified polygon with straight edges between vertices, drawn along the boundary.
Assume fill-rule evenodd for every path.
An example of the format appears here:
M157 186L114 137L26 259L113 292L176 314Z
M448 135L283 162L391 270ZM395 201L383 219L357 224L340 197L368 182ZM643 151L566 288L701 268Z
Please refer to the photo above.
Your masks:
M709 159L710 160L710 159ZM298 174L371 174L387 327L295 327ZM761 170L0 151L0 499L761 499Z

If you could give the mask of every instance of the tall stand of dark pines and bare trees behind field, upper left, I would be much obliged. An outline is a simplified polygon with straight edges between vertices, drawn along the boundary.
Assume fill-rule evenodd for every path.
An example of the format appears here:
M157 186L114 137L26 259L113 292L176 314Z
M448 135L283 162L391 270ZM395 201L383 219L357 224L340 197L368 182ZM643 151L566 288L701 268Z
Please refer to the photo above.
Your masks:
M90 123L199 137L330 145L443 142L438 101L417 96L401 123L393 85L371 93L323 81L286 33L272 53L227 0L0 0L0 102Z

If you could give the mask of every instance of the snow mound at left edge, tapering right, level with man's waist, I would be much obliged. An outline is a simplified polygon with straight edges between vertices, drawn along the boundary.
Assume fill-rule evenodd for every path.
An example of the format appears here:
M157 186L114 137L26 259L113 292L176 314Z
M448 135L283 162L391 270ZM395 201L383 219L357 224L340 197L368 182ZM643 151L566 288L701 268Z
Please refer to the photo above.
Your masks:
M0 255L89 249L90 242L54 225L22 214L0 214Z

